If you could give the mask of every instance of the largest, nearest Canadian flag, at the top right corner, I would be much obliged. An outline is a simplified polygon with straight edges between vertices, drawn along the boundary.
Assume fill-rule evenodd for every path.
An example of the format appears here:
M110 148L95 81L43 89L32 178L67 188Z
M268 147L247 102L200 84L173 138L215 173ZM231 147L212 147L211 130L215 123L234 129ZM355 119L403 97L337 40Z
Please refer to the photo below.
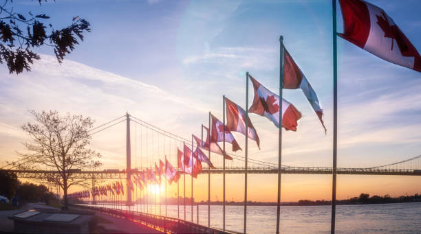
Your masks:
M384 10L360 0L339 0L345 40L389 62L421 72L421 56Z

